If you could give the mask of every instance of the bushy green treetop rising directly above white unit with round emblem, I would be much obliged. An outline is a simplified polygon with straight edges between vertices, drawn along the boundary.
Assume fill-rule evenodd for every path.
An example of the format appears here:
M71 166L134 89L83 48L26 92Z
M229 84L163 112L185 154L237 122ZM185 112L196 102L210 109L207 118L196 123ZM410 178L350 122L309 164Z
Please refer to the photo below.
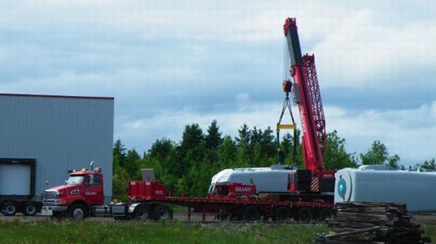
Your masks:
M390 156L385 144L378 140L371 144L371 148L365 154L360 154L360 158L363 165L384 164L391 168L399 168L400 157L397 154Z

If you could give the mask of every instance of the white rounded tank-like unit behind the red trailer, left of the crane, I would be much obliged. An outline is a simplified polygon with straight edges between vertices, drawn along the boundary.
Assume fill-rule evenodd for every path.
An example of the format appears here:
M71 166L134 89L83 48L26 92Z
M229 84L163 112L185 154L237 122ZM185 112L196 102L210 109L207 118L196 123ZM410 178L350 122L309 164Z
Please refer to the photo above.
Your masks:
M286 192L290 174L295 170L285 169L283 165L270 168L235 168L222 170L212 177L211 188L219 182L241 182L255 184L257 192Z

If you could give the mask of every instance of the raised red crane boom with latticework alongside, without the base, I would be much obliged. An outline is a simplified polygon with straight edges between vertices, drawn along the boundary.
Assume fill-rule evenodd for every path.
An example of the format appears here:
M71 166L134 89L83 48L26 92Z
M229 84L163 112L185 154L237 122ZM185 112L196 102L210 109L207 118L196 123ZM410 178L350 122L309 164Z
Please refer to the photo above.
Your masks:
M321 148L326 138L326 121L316 77L314 55L302 57L295 18L287 18L283 30L290 55L294 97L300 97L297 104L302 125L304 168L315 171L323 168Z

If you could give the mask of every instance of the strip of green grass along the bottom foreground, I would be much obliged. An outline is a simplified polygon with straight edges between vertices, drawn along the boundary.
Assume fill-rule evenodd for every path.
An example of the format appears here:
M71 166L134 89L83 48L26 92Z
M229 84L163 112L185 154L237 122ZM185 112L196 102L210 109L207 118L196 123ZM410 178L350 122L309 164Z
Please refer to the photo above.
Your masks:
M423 226L436 240L436 226ZM0 221L0 243L312 243L323 224Z

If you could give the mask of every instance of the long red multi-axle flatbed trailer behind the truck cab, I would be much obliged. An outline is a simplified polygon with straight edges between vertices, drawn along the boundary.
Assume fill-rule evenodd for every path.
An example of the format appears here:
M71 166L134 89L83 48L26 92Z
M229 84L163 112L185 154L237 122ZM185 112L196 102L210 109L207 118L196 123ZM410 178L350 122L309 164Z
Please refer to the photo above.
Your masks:
M309 222L323 221L335 212L335 205L331 203L271 200L275 198L274 194L207 194L205 198L192 198L162 194L165 192L166 187L156 182L129 182L129 198L133 203L126 205L125 213L136 219L160 219L172 214L172 210L163 205L170 203L187 207L188 220L191 220L191 213L196 212L203 214L203 221L207 213L214 213L221 220L255 221L271 218L273 221L286 221L293 218Z

